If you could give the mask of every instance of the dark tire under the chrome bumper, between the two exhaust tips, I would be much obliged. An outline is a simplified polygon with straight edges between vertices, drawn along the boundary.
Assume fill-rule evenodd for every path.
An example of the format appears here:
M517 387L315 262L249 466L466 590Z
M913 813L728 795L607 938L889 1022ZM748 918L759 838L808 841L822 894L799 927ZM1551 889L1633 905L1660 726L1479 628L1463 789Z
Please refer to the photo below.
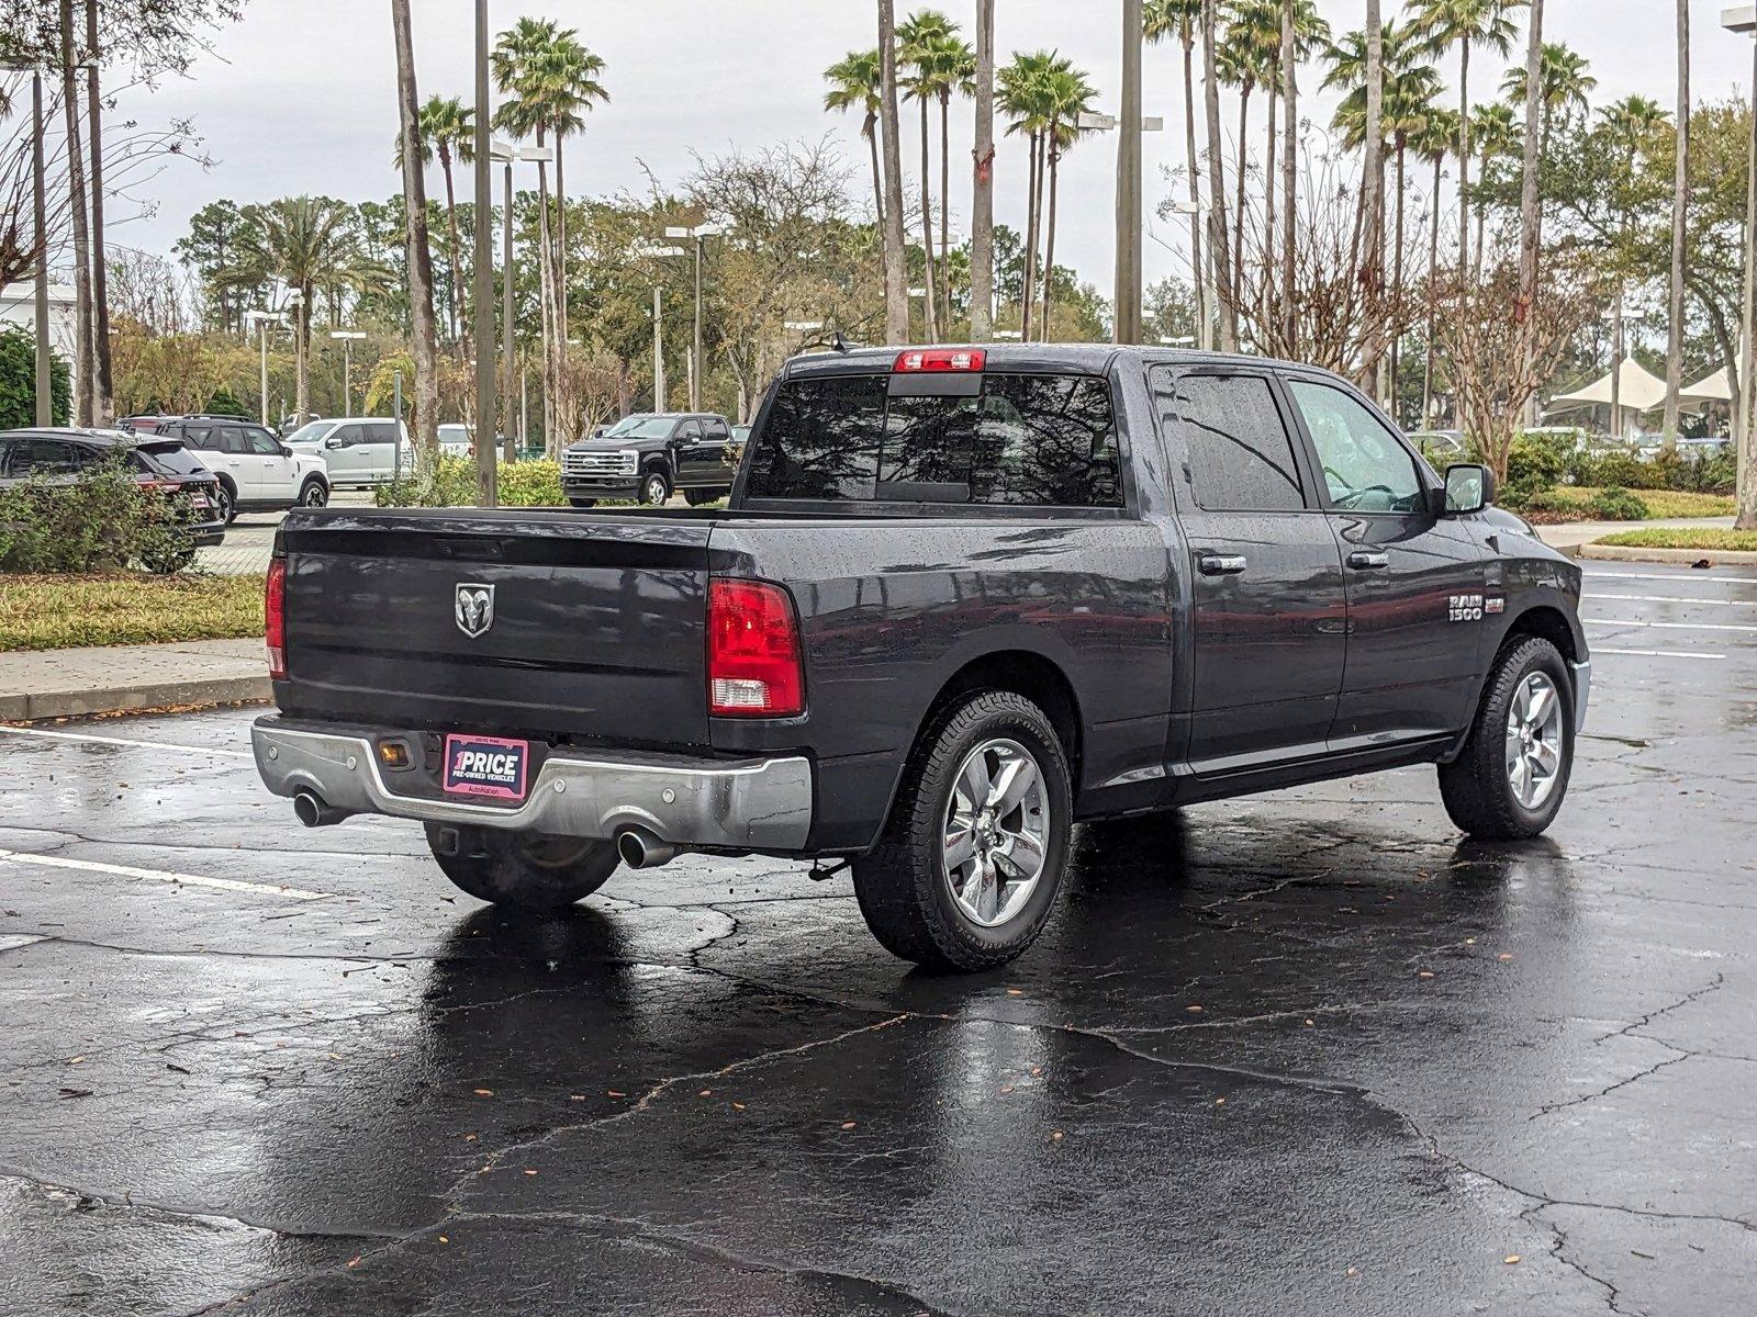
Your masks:
M539 913L566 910L617 871L617 846L467 824L427 824L445 876L478 901Z

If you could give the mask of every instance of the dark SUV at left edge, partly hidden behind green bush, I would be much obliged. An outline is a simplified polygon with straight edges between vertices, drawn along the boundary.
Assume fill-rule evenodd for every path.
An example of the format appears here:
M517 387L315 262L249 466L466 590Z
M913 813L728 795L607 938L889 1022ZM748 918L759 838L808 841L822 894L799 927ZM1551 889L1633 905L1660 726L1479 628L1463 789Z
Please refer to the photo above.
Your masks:
M72 483L118 455L146 488L188 499L192 553L225 539L220 479L177 439L65 427L5 430L0 432L0 486L26 479Z

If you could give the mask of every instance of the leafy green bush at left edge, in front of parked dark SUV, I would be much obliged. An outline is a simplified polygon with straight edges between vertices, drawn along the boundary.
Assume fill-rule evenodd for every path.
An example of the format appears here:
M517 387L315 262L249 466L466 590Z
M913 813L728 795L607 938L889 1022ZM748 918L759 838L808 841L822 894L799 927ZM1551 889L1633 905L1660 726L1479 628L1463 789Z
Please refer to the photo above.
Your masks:
M188 565L188 502L142 488L121 462L76 481L28 479L0 490L0 571L91 572Z

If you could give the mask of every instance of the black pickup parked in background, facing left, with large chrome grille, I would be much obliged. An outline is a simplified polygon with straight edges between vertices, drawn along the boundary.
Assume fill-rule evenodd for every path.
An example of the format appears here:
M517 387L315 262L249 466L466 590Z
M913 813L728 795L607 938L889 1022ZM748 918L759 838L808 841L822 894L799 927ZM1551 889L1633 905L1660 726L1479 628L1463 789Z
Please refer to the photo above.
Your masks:
M638 411L560 455L560 486L575 507L599 499L661 504L682 493L691 507L733 492L726 446L733 427L712 411Z

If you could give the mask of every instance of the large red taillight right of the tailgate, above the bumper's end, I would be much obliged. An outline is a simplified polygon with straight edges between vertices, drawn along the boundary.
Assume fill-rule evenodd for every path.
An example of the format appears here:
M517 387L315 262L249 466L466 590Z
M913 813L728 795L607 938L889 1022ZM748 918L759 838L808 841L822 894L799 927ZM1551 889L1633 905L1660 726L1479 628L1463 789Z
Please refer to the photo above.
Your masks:
M787 718L805 713L799 622L768 581L708 581L708 713Z

